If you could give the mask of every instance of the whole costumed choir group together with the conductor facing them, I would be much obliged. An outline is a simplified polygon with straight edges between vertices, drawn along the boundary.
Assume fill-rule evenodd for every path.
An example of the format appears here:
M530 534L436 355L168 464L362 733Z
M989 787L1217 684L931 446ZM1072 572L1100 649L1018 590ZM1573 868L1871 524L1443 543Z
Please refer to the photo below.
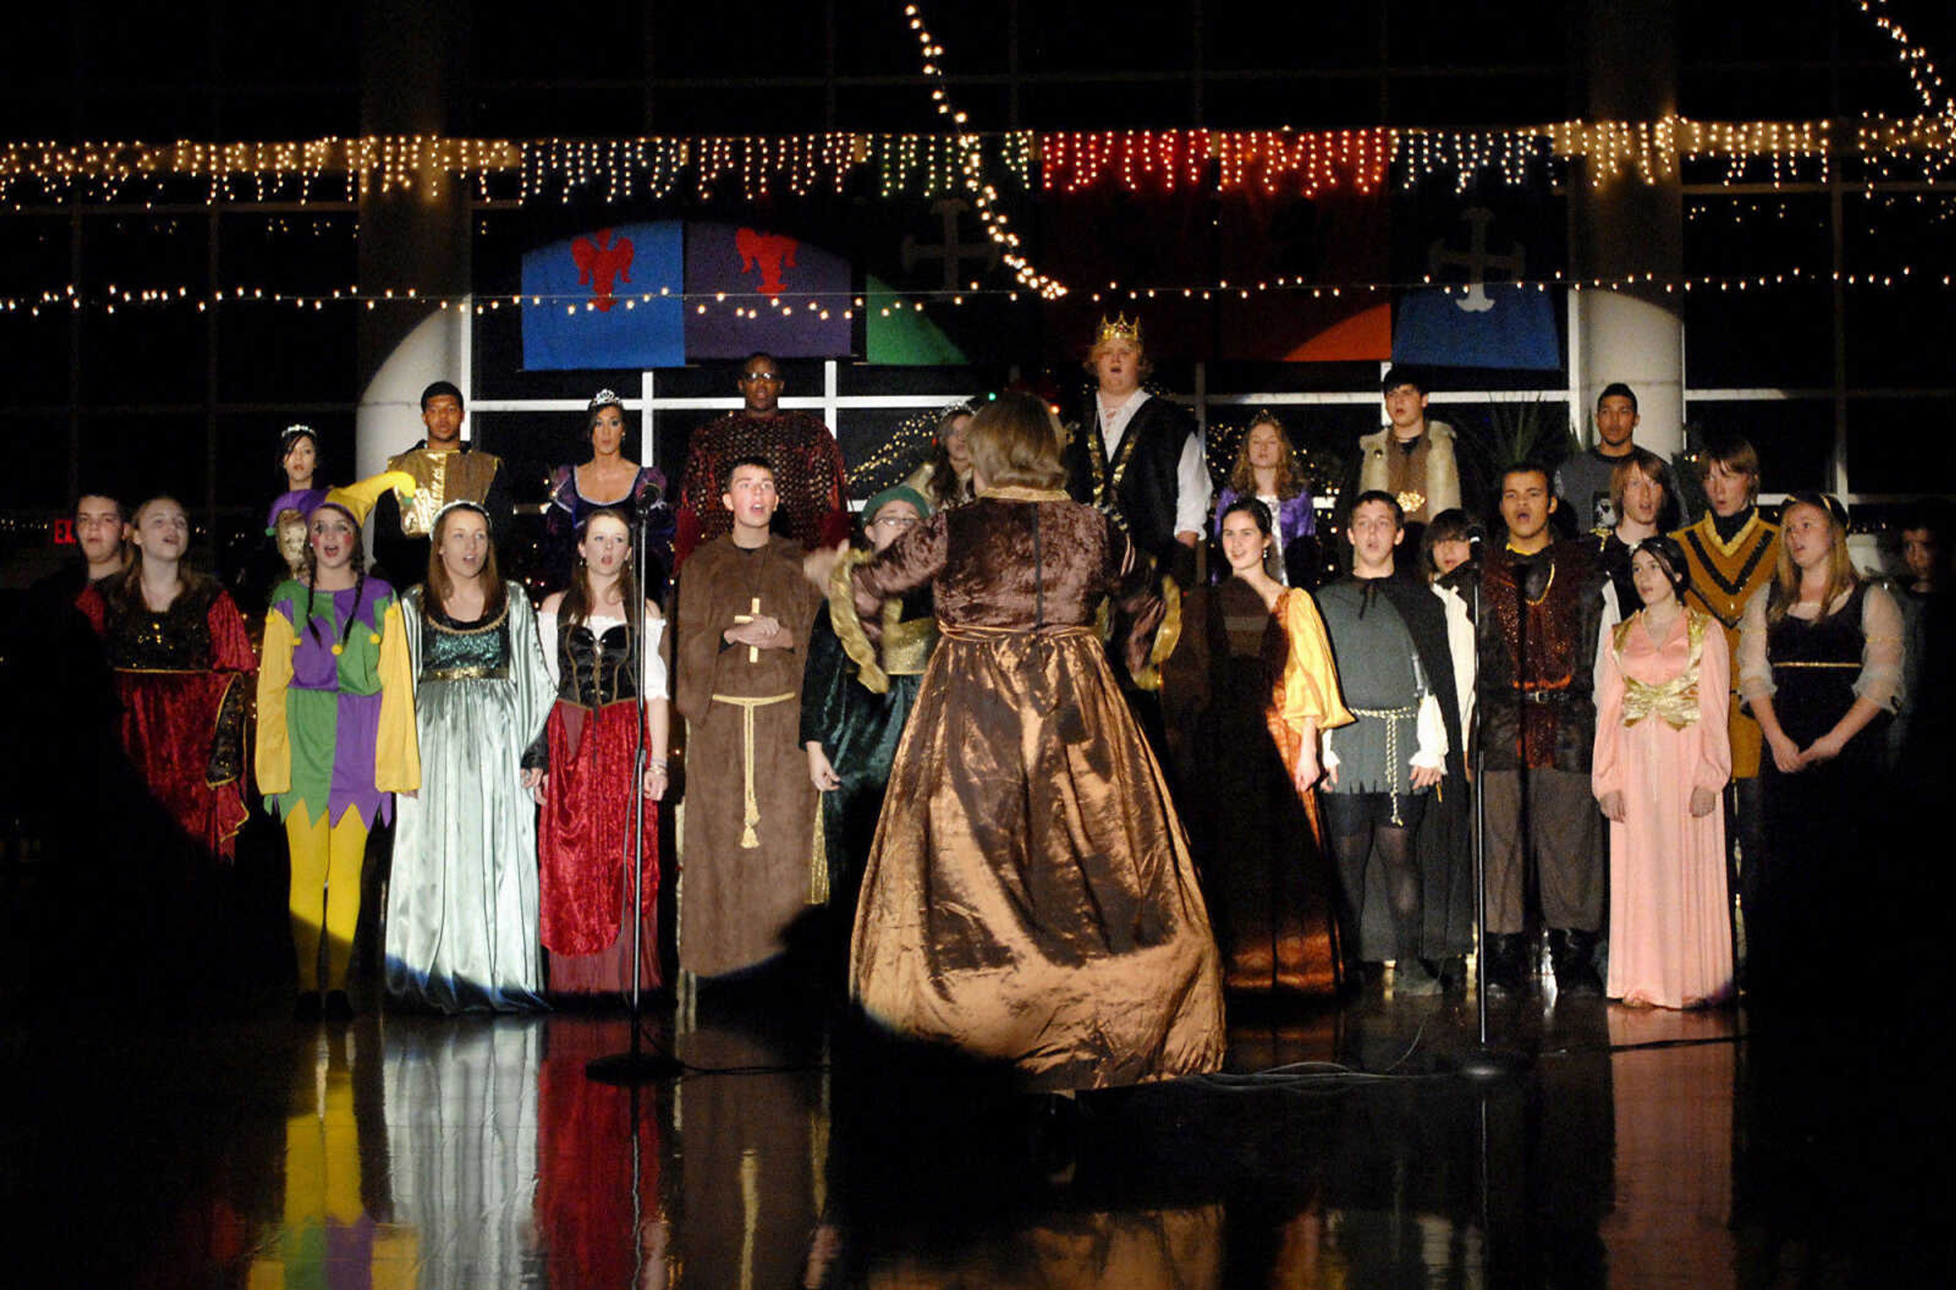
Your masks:
M1594 448L1492 470L1395 372L1320 530L1281 421L1213 491L1136 323L1103 321L1088 372L1070 427L1021 393L951 409L853 538L835 438L778 407L771 356L671 495L600 392L534 607L497 568L507 472L460 438L460 390L346 487L293 427L256 648L186 562L182 505L84 495L74 605L162 850L223 863L262 797L301 1014L352 1008L391 824L393 1000L657 987L677 879L683 973L751 971L825 904L823 971L870 1018L1054 1090L1217 1069L1224 989L1451 992L1477 949L1492 992L1545 945L1561 994L1786 998L1825 922L1868 914L1845 875L1921 756L1940 511L1889 583L1833 497L1768 519L1743 440L1702 456L1684 525L1623 386Z

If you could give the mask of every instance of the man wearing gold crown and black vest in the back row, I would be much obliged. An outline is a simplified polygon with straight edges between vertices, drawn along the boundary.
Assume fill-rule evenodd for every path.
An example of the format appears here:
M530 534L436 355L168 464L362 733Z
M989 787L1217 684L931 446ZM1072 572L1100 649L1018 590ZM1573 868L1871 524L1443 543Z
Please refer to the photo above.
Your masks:
M1099 507L1187 587L1195 544L1209 517L1209 464L1189 409L1140 388L1152 370L1140 321L1101 319L1088 372L1091 415L1082 415L1060 454L1074 501Z

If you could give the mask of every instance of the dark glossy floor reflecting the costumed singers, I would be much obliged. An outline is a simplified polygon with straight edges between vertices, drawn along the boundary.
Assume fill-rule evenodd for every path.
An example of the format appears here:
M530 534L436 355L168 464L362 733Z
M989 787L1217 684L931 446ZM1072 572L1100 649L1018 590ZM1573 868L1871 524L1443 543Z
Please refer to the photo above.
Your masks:
M1234 1010L1230 1075L906 1075L810 1018L12 1020L10 1284L1940 1284L1944 1079L1846 1028L1528 998ZM671 1028L655 1028L669 1039Z

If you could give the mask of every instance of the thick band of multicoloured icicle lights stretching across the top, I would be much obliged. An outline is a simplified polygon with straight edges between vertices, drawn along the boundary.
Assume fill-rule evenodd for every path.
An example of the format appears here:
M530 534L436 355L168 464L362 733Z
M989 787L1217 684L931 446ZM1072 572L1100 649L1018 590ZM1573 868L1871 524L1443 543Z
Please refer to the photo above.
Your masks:
M915 10L915 6L910 6ZM915 20L919 22L921 20ZM927 27L919 25L919 51ZM941 51L941 45L929 45ZM958 112L941 88L943 65L927 80L941 115ZM1911 67L1917 67L1911 63ZM1933 67L1923 59L1921 69ZM1927 74L1927 72L1923 72ZM1938 86L1940 78L1925 84ZM673 196L761 202L780 192L847 192L859 174L884 198L966 196L986 233L1015 258L1019 235L1001 209L1000 182L1019 192L1078 194L1099 184L1129 192L1240 192L1312 198L1367 194L1391 170L1402 190L1434 178L1457 188L1498 182L1520 188L1559 182L1559 166L1588 162L1594 186L1627 178L1667 182L1712 164L1723 184L1749 178L1829 182L1837 157L1858 162L1870 182L1925 174L1931 182L1956 159L1956 108L1919 117L1868 115L1845 149L1829 121L1557 121L1512 129L1373 127L1330 131L1007 131L951 133L708 135L638 139L448 139L364 135L299 143L4 143L0 202L155 202L170 184L192 182L207 204L358 202L370 194L436 196L462 182L483 200L518 206L595 200L610 206ZM996 178L994 178L996 176Z

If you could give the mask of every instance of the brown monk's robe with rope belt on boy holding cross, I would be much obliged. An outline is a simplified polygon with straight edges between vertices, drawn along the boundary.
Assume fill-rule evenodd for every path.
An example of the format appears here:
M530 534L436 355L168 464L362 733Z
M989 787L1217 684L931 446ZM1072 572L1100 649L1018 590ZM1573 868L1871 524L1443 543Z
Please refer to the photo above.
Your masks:
M679 844L679 967L716 977L780 953L810 902L816 789L802 752L802 668L818 591L788 538L700 546L679 576L675 687L687 718L687 812ZM792 648L728 644L755 617Z

